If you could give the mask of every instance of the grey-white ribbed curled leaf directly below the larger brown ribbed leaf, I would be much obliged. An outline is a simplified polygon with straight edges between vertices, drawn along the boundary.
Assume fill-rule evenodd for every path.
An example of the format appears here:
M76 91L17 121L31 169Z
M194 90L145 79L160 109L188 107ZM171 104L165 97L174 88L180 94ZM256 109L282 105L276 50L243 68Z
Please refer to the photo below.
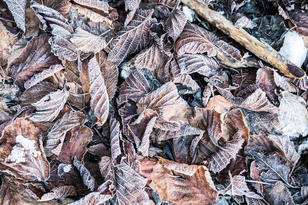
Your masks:
M177 60L182 74L197 72L211 77L218 74L220 68L214 59L200 54L183 54Z

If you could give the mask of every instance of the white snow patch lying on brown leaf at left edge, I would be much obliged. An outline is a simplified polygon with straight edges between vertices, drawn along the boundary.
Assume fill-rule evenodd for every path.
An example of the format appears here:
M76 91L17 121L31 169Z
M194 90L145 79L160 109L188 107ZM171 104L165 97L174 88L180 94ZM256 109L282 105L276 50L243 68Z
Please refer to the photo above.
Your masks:
M35 150L35 141L29 140L22 135L16 136L16 145L13 147L11 154L8 156L10 161L15 161L16 163L25 162L25 155L32 155L37 157L41 155L41 152Z

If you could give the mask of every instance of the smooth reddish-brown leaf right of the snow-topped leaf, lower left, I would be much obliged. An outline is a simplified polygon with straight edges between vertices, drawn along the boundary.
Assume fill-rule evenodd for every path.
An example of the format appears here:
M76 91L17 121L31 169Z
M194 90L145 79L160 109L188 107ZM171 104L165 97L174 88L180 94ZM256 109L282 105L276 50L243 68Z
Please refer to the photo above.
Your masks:
M77 130L77 131L75 131ZM76 127L72 129L71 136L67 136L66 142L63 143L59 158L67 164L72 164L72 157L82 160L88 143L92 139L92 131L88 127Z

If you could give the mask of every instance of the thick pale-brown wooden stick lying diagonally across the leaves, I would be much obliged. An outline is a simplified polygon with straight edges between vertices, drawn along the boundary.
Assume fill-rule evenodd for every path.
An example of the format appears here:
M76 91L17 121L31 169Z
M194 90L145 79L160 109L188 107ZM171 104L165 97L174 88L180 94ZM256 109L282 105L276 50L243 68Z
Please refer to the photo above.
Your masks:
M271 64L285 76L293 78L304 78L306 76L306 73L301 68L291 63L290 60L286 59L271 46L261 43L244 29L235 27L232 22L217 11L210 9L197 0L181 0L181 2L256 56Z

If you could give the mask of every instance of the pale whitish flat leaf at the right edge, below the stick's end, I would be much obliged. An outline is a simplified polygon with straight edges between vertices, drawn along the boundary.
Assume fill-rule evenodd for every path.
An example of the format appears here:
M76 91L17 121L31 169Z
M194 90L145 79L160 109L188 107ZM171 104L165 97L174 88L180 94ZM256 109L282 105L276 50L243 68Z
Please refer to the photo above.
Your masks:
M278 119L281 131L287 136L308 134L308 112L306 101L297 95L283 91L279 94Z

